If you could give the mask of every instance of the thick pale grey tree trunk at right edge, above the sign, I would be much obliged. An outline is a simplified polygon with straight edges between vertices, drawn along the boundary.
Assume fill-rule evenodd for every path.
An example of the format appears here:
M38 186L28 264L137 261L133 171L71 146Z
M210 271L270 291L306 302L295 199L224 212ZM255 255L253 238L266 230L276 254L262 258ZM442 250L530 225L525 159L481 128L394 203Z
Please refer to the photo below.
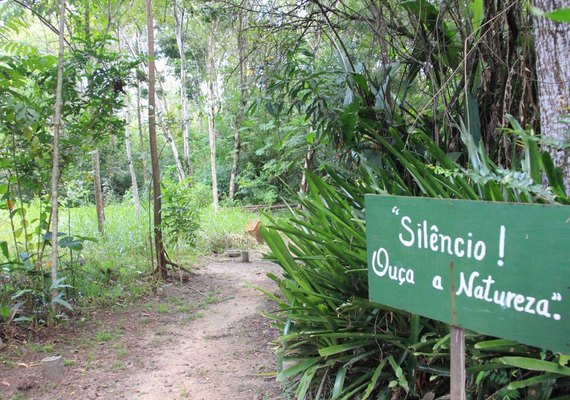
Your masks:
M535 5L548 12L568 7L568 1L536 0ZM570 24L542 16L534 23L541 135L568 146L570 135L563 116L568 114L570 93ZM566 194L570 194L570 148L549 146L548 151L554 165L562 170Z

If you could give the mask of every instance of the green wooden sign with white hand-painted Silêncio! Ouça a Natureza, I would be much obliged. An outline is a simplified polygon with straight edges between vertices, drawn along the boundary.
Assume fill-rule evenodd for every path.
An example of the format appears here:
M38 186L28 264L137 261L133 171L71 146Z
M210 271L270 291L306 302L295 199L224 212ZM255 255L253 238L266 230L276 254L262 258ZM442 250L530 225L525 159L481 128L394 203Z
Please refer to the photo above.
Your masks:
M370 299L570 354L570 207L366 196Z

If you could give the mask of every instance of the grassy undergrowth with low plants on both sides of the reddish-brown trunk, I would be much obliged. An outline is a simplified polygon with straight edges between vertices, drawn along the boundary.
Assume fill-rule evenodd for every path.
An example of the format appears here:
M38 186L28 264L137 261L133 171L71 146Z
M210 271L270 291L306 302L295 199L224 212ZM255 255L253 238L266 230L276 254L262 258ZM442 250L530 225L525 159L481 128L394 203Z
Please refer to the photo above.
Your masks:
M23 214L38 214L40 207L39 202L32 202ZM258 215L240 208L214 212L208 206L192 213L195 232L184 235L178 229L176 241L170 242L176 245L169 247L173 261L184 268L191 269L200 254L256 246L245 227L248 221L260 219ZM93 205L60 211L61 279L57 284L62 295L58 318L68 318L85 308L124 306L151 291L149 208L143 205L138 215L131 204L110 204L105 207L105 217L105 234L100 235ZM30 234L24 246L22 237L13 232L24 224L34 231L33 220L22 222L14 215L10 218L8 210L0 210L0 221L0 242L6 244L0 253L0 336L6 338L48 319L52 283L46 260L51 237Z

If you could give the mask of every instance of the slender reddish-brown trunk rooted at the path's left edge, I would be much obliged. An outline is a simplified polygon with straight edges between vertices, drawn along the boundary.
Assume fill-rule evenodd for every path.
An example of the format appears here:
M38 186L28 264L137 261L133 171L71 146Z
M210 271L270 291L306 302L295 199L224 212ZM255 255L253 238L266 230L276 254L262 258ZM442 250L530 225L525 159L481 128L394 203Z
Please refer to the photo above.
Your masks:
M156 252L156 274L166 279L166 251L162 241L162 200L160 189L160 165L158 162L158 146L156 143L156 89L154 64L154 26L152 0L146 0L146 23L148 31L148 137L150 143L150 161L152 164L152 200L154 216L154 247Z

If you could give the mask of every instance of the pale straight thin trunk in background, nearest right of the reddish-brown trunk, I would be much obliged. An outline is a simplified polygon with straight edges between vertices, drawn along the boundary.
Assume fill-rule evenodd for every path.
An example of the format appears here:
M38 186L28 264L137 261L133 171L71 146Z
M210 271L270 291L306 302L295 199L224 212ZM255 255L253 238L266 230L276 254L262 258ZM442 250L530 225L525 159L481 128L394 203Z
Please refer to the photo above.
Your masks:
M216 80L216 67L214 64L214 46L216 45L214 34L217 29L217 21L212 22L210 35L208 36L208 139L210 141L210 169L212 173L212 203L214 210L218 211L218 177L216 170L216 93L214 90Z

